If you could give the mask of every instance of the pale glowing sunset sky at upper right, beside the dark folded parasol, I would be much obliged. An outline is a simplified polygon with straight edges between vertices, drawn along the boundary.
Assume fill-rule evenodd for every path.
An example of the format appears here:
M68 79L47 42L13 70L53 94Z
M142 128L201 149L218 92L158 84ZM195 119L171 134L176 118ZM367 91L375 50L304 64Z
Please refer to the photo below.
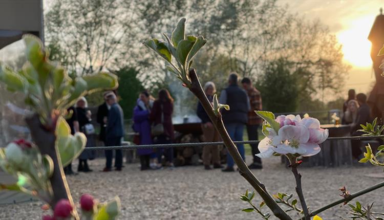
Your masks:
M371 91L375 81L370 58L369 31L384 1L279 1L292 12L319 19L329 27L343 45L344 61L352 66L346 79L344 94L349 89L357 93ZM384 36L383 36L384 37Z

